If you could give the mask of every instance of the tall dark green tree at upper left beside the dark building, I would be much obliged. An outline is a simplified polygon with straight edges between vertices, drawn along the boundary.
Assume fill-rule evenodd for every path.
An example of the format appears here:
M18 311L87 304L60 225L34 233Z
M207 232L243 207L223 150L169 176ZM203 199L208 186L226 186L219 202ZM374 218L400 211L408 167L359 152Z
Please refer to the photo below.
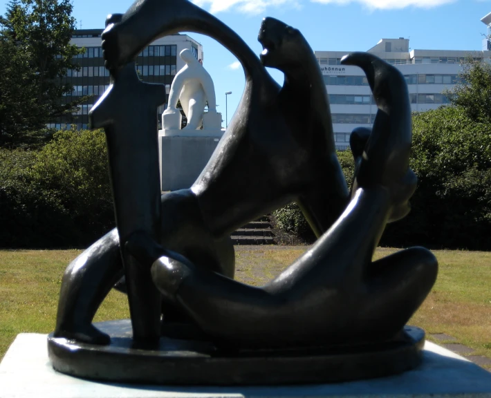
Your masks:
M0 145L16 145L84 98L64 101L73 86L68 69L81 52L70 44L75 29L71 0L14 0L0 21ZM7 72L6 72L7 71Z

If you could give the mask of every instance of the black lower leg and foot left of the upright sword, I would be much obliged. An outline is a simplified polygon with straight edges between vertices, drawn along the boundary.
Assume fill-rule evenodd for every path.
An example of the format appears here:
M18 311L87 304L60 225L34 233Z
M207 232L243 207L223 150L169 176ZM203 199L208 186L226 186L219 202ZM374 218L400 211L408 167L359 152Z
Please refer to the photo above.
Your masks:
M109 343L109 337L92 325L92 319L122 274L118 231L113 229L66 268L59 293L55 336L85 343Z

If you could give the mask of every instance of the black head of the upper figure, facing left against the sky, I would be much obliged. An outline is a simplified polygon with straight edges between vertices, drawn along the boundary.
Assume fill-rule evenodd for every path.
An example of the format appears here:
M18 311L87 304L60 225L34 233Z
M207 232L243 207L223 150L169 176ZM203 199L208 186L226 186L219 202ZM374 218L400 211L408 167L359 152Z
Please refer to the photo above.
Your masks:
M302 33L278 19L264 18L257 39L263 46L264 66L284 70L302 59L305 43Z

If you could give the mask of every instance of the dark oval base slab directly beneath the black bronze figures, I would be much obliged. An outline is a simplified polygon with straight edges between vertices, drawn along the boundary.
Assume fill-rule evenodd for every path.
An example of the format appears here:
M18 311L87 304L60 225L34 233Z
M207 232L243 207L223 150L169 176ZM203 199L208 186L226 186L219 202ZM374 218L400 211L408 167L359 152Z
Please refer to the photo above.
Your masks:
M207 341L160 339L158 350L131 348L129 320L96 323L110 345L48 337L53 368L76 377L118 383L270 385L334 383L405 372L419 365L425 332L407 326L385 343L295 350L221 352Z

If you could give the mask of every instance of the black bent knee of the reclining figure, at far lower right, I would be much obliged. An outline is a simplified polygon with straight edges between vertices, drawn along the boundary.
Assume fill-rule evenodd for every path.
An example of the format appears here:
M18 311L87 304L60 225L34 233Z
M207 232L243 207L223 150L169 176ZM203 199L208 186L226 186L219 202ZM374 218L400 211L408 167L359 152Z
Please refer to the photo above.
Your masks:
M380 338L402 330L432 290L438 261L424 247L411 247L367 267L367 293L360 308L360 326ZM366 315L366 317L364 317Z

